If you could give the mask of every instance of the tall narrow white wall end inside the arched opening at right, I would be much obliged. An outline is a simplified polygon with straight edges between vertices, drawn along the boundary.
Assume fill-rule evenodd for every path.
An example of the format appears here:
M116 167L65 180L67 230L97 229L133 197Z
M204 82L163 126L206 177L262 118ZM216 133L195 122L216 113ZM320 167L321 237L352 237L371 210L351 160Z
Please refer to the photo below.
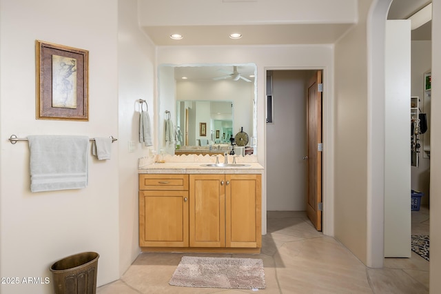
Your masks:
M411 257L411 22L386 22L384 257Z

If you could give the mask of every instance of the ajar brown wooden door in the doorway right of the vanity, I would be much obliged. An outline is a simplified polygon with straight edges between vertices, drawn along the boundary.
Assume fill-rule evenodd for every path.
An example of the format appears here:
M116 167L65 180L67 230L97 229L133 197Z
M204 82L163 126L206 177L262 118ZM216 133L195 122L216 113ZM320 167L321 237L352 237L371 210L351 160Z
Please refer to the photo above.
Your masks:
M307 216L322 231L322 71L309 81L307 97Z

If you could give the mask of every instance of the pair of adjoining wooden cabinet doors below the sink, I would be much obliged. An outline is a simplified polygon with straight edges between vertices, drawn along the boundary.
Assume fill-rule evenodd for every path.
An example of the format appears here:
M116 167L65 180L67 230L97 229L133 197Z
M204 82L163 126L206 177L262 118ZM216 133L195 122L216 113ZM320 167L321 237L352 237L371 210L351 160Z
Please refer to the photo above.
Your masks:
M189 175L189 246L261 247L261 175Z

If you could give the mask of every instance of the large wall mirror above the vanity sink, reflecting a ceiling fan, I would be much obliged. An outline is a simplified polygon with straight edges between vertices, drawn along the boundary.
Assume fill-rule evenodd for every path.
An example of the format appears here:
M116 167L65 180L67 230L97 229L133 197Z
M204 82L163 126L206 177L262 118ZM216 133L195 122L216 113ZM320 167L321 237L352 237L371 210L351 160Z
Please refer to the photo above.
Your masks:
M160 120L170 111L176 141L159 148L170 154L204 154L231 148L231 137L243 131L256 141L256 65L194 64L158 67Z

